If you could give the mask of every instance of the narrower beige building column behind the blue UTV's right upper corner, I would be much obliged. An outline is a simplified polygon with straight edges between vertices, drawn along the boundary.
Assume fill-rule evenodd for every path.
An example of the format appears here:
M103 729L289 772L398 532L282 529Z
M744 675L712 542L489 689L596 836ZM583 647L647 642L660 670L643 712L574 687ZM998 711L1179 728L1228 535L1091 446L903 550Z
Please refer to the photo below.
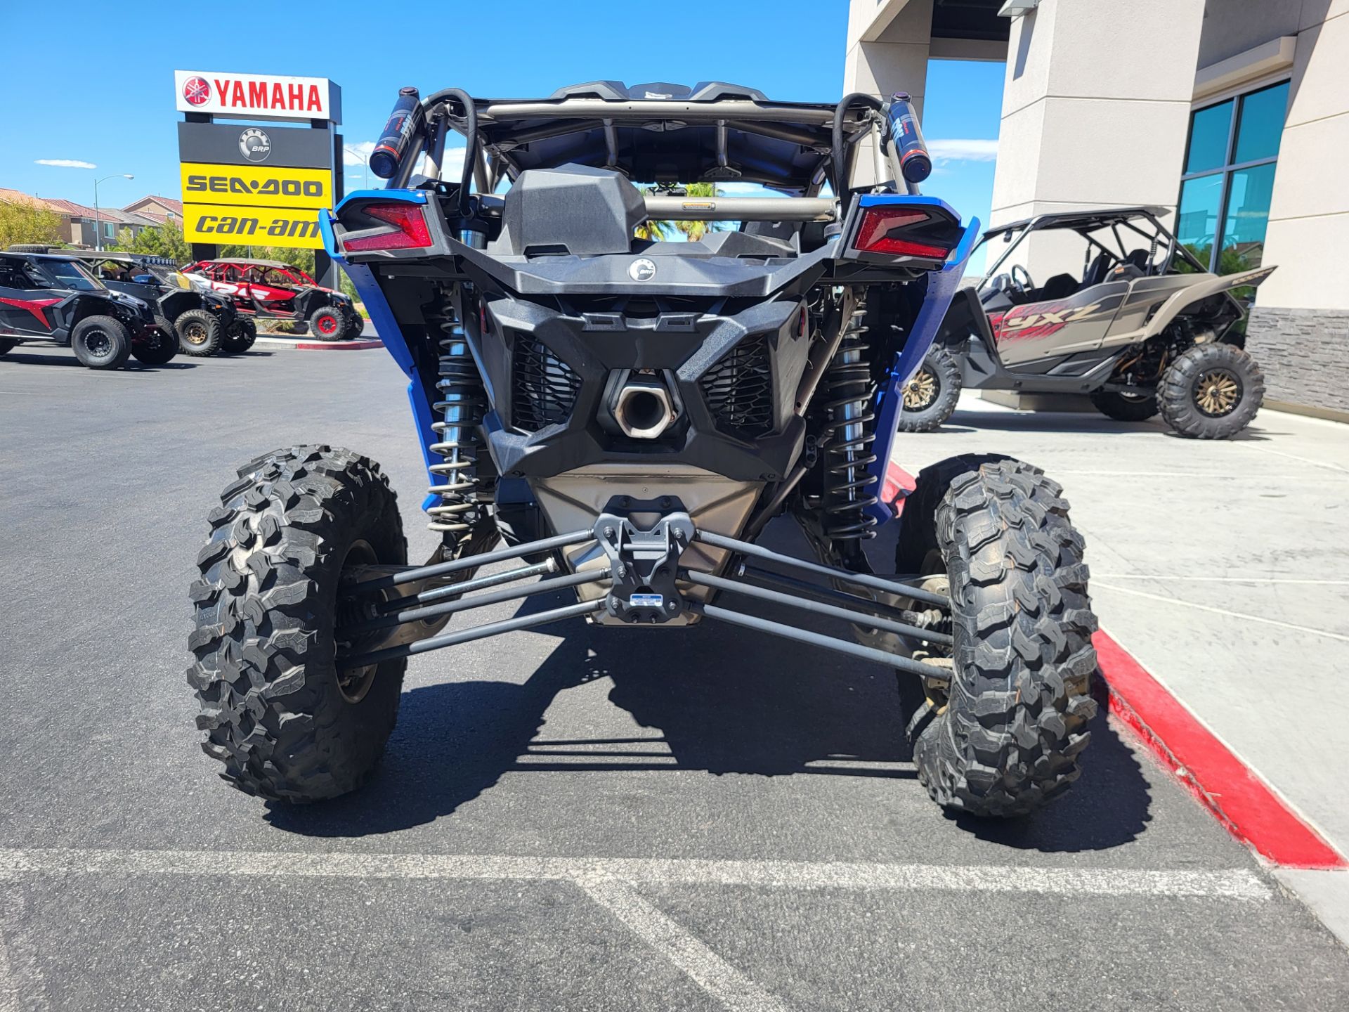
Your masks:
M931 40L932 0L851 0L843 94L862 92L885 101L896 92L908 92L921 120ZM874 165L873 144L863 140L853 185L874 184Z

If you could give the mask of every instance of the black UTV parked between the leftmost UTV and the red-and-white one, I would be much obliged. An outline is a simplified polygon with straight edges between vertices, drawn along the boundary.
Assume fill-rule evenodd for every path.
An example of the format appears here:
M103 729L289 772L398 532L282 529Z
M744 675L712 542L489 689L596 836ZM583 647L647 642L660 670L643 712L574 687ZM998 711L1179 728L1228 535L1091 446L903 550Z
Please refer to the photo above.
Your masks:
M186 355L243 352L258 337L254 322L235 312L232 300L198 291L166 256L92 250L69 250L62 255L84 260L113 291L135 296L154 306L155 321L167 333L177 335Z

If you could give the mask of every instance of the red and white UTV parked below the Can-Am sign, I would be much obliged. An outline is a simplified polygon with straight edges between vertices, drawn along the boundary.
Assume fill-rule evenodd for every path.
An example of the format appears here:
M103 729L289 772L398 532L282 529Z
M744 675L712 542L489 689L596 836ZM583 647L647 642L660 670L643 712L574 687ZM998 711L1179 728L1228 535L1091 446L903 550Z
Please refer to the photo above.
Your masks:
M291 320L322 340L355 340L364 321L352 301L279 260L197 260L182 269L193 285L229 296L244 318Z

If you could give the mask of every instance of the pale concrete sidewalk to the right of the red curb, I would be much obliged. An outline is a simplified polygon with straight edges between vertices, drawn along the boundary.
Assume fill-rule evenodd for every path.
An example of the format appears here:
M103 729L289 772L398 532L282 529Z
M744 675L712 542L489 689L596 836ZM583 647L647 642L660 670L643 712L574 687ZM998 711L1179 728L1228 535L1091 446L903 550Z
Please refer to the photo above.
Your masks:
M966 393L896 459L916 471L973 452L1063 484L1102 626L1349 853L1349 426L1265 410L1238 439L1201 443ZM1290 878L1349 909L1344 873Z

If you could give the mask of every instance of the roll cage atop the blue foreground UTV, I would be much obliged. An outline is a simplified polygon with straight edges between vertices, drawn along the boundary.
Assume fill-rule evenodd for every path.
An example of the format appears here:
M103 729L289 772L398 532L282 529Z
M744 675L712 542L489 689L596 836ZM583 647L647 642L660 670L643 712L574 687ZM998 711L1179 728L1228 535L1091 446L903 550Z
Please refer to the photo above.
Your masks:
M460 178L467 193L495 193L529 169L583 165L622 173L631 182L750 182L785 196L718 198L716 206L652 194L652 217L697 215L704 220L819 221L838 219L838 200L854 189L858 142L870 136L871 178L897 181L916 194L889 139L888 104L850 94L838 104L770 101L761 92L724 82L635 85L598 81L560 89L549 99L473 99L455 88L421 103L413 116L409 155L389 189L440 181L447 139L465 139ZM822 198L826 185L832 196ZM886 188L889 189L889 188ZM893 192L892 190L892 192ZM765 202L772 201L772 206Z

